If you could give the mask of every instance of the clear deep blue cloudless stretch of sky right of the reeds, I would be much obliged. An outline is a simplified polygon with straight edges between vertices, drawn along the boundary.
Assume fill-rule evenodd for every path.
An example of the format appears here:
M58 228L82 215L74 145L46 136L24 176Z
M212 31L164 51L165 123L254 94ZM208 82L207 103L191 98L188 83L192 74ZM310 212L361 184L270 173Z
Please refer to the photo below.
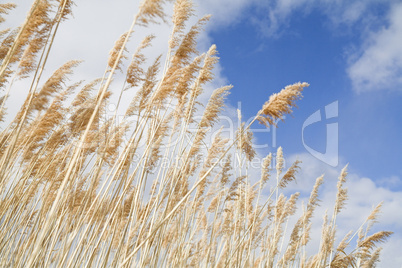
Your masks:
M350 74L359 60L355 58L364 55L369 36L390 27L392 21L387 17L396 5L387 1L368 5L365 16L372 18L369 22L362 18L334 22L322 7L312 5L288 15L274 32L258 27L258 23L267 23L269 28L268 7L257 3L244 8L235 23L210 33L220 51L221 73L234 85L231 105L241 101L245 117L250 117L271 93L306 81L310 87L299 109L278 125L277 144L285 145L288 153L305 151L301 140L304 120L338 100L339 156L350 163L350 170L378 180L401 178L402 83L370 81L373 85L365 87L357 85ZM396 39L402 46L402 35ZM306 143L319 151L325 150L325 123L305 132ZM395 186L400 190L402 184Z

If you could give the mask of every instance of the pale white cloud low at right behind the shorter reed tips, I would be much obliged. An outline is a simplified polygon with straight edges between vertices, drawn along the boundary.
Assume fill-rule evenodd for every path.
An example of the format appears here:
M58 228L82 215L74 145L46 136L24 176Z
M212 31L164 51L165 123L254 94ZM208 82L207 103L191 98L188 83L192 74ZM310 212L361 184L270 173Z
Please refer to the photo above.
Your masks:
M313 240L309 246L311 253L314 253L320 242L321 233L318 230L321 230L322 216L326 209L328 209L329 215L333 210L340 168L332 168L307 153L292 155L288 158L288 162L292 162L295 159L302 160L301 170L297 176L297 184L289 185L289 192L300 191L305 196L308 196L315 179L324 174L324 185L320 190L319 197L321 205L315 213L312 228L315 231L312 233ZM402 207L402 191L394 191L378 186L372 179L354 173L348 174L346 187L348 188L349 199L346 207L337 217L338 243L349 231L356 231L368 217L373 206L383 201L378 219L379 223L374 225L371 232L385 230L393 231L394 234L389 239L389 242L379 245L383 247L379 266L400 268L402 265L402 257L399 254L402 246L402 228L400 226L402 214L399 212ZM354 246L354 244L351 244L351 247Z

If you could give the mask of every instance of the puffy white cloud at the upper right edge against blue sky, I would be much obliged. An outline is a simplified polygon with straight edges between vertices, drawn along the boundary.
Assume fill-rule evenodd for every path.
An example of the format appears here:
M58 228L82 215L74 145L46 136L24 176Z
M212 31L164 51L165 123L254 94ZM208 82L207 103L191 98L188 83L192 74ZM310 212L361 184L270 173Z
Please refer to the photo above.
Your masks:
M371 33L360 57L348 68L358 92L402 86L402 4L389 14L389 26Z

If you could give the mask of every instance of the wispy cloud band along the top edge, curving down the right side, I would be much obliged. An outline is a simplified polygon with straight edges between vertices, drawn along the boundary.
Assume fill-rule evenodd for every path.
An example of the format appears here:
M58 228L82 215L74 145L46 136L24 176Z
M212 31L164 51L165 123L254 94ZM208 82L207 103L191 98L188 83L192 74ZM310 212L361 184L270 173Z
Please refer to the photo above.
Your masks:
M207 0L200 1L199 6L201 12L208 11L214 15L213 27L228 26L245 19L268 38L280 37L293 18L319 12L327 18L327 26L334 34L349 29L357 37L354 41L357 52L347 56L346 69L353 90L363 92L402 88L400 1ZM253 16L249 16L250 7L255 8Z

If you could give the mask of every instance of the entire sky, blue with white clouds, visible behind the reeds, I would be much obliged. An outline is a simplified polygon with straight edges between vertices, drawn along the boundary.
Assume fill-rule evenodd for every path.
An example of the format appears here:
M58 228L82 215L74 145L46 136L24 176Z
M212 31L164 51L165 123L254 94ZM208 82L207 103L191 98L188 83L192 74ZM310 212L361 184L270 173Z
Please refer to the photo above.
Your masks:
M19 8L7 18L5 26L20 24L32 3L15 2ZM45 77L71 59L84 60L74 81L102 76L110 49L127 31L139 4L125 0L115 0L112 6L107 0L76 2L74 18L60 27ZM357 229L371 207L384 201L379 228L395 234L384 245L379 267L401 267L402 1L195 0L195 4L197 16L213 15L200 36L200 51L216 44L220 56L216 82L206 89L206 97L215 86L234 85L227 100L227 115L235 120L234 111L241 102L243 119L247 120L272 93L295 82L308 82L310 87L298 102L299 108L278 124L276 132L275 145L283 146L287 162L303 161L298 183L290 185L290 190L306 195L315 179L325 173L322 206L314 222L320 228L320 213L331 209L337 176L349 163L350 199L339 217L339 237ZM167 10L171 14L169 10L171 7ZM191 19L190 24L195 21ZM152 32L159 39L148 51L149 58L166 53L169 29L164 24L137 29L129 51L135 51L140 36ZM15 82L10 114L16 112L28 85L26 80ZM325 107L334 101L338 101L338 117L306 127L304 141L323 153L326 125L337 123L336 167L312 156L302 142L303 123L317 110L325 117ZM253 128L262 126L256 124ZM255 137L256 144L270 145L258 150L260 157L276 150L272 131L256 132Z

